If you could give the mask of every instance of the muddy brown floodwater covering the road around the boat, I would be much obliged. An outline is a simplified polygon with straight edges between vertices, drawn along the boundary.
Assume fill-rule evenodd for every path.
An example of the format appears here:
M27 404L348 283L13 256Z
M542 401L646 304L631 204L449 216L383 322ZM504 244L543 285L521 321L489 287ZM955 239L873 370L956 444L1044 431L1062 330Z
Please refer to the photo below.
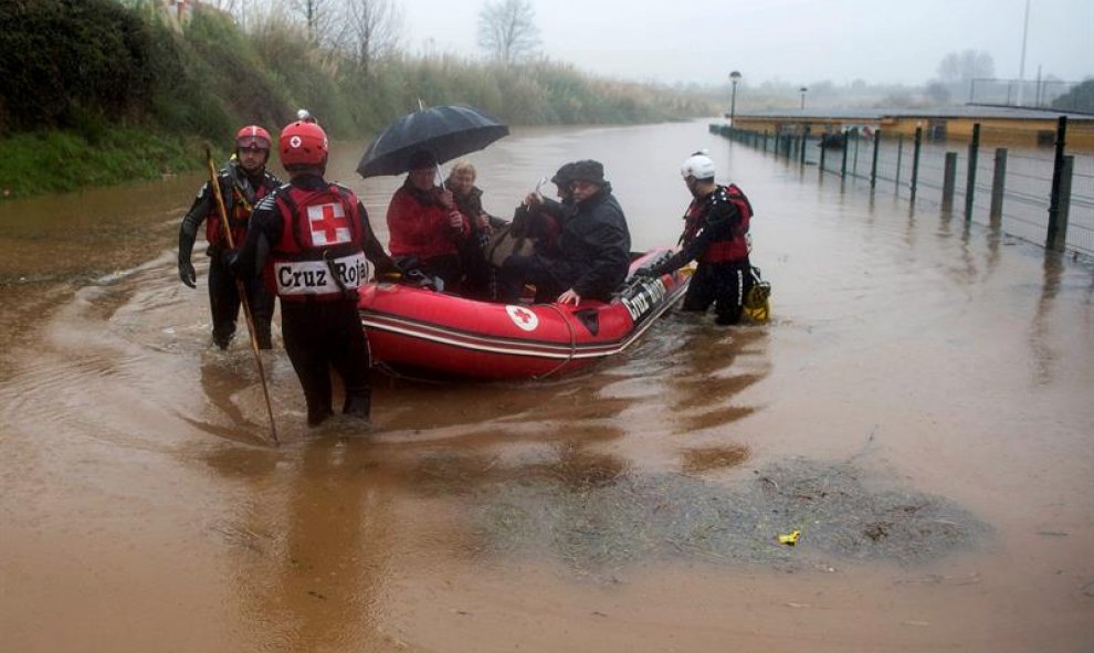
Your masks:
M702 123L474 160L498 214L603 160L641 249L698 147L756 208L771 324L673 315L571 379L378 373L371 433L308 431L277 347L277 449L177 278L200 175L0 204L0 650L1091 651L1091 266ZM330 177L386 238L362 149Z

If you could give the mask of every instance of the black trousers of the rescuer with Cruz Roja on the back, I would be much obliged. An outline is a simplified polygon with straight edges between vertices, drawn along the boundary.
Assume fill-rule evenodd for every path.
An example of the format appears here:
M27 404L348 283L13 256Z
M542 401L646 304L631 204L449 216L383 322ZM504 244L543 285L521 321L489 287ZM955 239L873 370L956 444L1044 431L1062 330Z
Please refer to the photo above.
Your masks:
M307 422L333 414L330 368L346 388L343 412L368 418L371 404L371 358L356 299L282 302L285 351L304 389Z

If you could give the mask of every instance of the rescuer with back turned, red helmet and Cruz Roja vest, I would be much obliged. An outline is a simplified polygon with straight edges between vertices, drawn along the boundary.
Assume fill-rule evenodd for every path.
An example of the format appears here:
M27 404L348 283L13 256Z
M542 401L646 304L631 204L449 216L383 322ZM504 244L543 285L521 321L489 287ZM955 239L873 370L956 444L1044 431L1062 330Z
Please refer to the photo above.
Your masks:
M231 270L242 276L262 271L281 297L285 351L304 389L308 425L334 414L330 368L346 388L343 412L368 421L371 361L357 288L369 276L366 261L378 272L395 265L357 196L324 179L329 152L319 125L286 126L277 151L290 182L255 207Z

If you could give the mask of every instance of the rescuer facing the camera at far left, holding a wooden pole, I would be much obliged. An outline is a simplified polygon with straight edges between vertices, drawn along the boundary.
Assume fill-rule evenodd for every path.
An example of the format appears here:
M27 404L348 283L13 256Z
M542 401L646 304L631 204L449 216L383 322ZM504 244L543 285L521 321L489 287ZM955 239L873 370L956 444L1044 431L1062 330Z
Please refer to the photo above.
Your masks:
M281 181L266 171L270 160L270 133L257 125L249 125L235 135L235 156L217 176L220 193L224 198L224 209L232 230L232 242L239 247L246 239L248 219L260 199L281 186ZM207 181L193 204L182 218L179 227L179 278L194 287L198 275L190 263L198 230L206 223L206 240L209 242L209 308L212 313L213 343L227 349L235 335L235 320L240 313L240 295L222 254L228 249L228 239L213 196ZM246 301L254 318L255 338L259 348L270 349L270 323L273 319L274 297L257 276L242 278Z

